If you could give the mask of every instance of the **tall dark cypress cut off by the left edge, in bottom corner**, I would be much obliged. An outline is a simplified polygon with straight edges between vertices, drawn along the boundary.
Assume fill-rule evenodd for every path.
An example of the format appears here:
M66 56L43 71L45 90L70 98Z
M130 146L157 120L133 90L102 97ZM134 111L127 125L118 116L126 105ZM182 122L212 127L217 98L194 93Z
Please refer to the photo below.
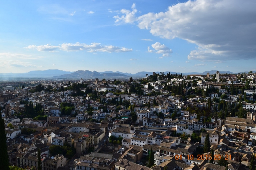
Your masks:
M4 130L4 119L0 119L0 169L9 170L9 157L6 145L6 133Z

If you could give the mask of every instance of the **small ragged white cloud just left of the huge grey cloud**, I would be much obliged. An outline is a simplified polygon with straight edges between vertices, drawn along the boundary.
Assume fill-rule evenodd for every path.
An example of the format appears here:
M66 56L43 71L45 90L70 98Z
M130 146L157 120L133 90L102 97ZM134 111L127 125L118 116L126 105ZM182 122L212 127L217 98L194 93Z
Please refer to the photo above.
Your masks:
M114 16L113 18L116 19L116 23L119 22L119 21L124 21L125 23L133 23L134 21L137 20L135 14L137 13L137 9L135 7L135 3L132 4L131 6L132 8L132 11L130 10L126 10L126 9L122 9L120 10L119 12L124 14L124 15L116 15Z

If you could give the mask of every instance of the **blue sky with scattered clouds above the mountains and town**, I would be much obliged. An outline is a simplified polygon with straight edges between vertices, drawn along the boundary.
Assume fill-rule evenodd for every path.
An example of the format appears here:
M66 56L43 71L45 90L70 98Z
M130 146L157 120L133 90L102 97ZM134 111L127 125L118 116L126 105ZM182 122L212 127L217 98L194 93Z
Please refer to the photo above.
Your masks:
M0 73L255 71L256 1L3 1Z

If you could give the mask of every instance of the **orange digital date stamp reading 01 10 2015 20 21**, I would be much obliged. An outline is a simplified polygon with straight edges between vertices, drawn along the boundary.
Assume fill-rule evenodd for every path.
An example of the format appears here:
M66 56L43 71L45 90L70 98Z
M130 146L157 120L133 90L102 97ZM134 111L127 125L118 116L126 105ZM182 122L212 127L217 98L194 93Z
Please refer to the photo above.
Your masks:
M187 160L193 160L194 159L194 156L193 155L187 155L187 156L184 156L185 159ZM182 155L175 155L175 159L176 160L182 160ZM214 155L213 158L212 158L212 155L197 155L197 160L220 160L221 159L221 155ZM225 160L231 160L231 155L224 155L224 159Z

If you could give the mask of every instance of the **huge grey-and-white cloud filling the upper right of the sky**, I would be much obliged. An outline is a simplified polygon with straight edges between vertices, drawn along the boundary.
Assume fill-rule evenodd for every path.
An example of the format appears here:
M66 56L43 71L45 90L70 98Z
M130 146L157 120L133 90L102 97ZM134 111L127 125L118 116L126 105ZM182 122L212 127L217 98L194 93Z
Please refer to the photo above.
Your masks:
M126 23L136 23L155 36L180 38L198 45L188 59L250 59L256 57L255 6L256 1L189 0L169 6L164 12L138 17L128 10L126 13L133 19ZM118 16L115 22L126 18L127 15Z

